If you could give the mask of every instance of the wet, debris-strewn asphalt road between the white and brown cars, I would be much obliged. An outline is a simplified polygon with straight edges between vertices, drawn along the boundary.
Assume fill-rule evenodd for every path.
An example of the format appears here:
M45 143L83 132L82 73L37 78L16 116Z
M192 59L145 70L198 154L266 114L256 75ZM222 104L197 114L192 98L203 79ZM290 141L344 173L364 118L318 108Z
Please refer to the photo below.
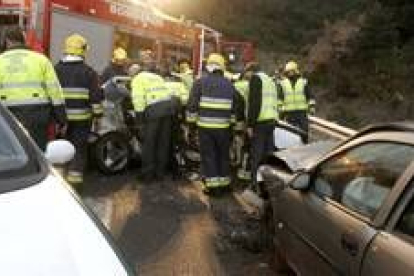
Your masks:
M131 170L90 173L82 196L140 275L275 275L271 242L231 193L207 197L186 181L145 185Z

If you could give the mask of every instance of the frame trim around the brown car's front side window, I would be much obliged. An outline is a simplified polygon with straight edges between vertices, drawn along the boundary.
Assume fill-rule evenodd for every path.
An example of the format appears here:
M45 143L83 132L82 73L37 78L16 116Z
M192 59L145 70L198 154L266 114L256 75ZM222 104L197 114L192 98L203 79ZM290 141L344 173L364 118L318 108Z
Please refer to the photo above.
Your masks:
M361 219L367 223L369 223L371 226L375 228L379 228L382 226L385 222L386 217L390 214L392 209L392 199L395 199L396 194L398 193L398 186L403 185L405 187L406 183L404 181L404 176L406 176L410 171L411 167L414 165L414 161L412 161L409 166L406 168L406 170L401 174L401 176L396 180L394 187L391 189L390 193L387 195L387 197L384 200L384 203L381 205L381 207L378 209L377 213L374 215L374 217L371 219L367 216L364 216L363 214L357 213L354 210L349 209L345 205L342 205L339 202L336 202L335 200L332 200L330 198L324 197L319 195L318 193L313 191L313 187L315 185L315 175L319 171L318 168L331 160L332 158L335 158L339 156L340 154L343 154L345 151L350 151L358 146L362 146L367 143L373 143L373 142L383 142L383 143L395 143L395 144L405 144L410 145L414 148L414 144L409 141L408 137L404 139L404 135L399 135L399 137L395 137L396 133L394 132L386 132L382 133L382 135L378 135L378 133L372 133L367 136L358 137L355 140L350 140L348 143L345 143L341 145L339 148L335 149L333 152L329 153L325 157L323 157L319 162L317 162L311 169L308 171L311 173L311 184L309 188L309 192L315 194L317 197L321 198L327 203L330 203L336 207L339 207L340 209L344 210L348 214ZM401 134L401 133L398 133ZM412 134L411 134L412 135ZM380 137L378 137L380 136ZM382 137L381 137L382 136ZM398 139L400 138L400 139ZM412 139L412 137L411 137ZM402 183L402 184L400 184ZM401 187L400 187L401 188ZM398 196L398 195L397 195ZM385 209L385 210L384 210Z

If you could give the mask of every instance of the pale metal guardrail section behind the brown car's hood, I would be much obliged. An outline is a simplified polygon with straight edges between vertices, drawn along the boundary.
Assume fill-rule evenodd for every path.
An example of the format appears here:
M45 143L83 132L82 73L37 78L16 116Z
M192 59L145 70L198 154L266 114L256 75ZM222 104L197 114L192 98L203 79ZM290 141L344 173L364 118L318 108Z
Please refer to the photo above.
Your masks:
M313 130L321 132L325 135L339 140L345 140L357 133L356 130L340 126L336 123L326 121L324 119L310 116L310 127Z

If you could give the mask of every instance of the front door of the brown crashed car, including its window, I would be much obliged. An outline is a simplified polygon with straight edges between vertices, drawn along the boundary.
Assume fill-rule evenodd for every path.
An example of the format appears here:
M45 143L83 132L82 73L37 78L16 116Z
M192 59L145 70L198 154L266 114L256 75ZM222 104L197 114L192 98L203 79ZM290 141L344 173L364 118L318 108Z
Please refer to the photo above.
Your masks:
M295 251L287 252L288 258L296 256L296 270L358 275L364 250L377 234L371 226L375 215L413 159L411 145L368 140L316 166L307 192L288 189L281 218L297 239Z

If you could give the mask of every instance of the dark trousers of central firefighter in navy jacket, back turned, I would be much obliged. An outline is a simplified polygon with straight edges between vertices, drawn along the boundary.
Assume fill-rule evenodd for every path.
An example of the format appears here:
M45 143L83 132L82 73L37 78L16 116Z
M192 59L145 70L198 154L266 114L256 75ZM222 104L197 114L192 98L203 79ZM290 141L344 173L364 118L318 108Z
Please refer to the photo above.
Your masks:
M230 175L229 128L198 128L201 172L206 178L225 177Z

